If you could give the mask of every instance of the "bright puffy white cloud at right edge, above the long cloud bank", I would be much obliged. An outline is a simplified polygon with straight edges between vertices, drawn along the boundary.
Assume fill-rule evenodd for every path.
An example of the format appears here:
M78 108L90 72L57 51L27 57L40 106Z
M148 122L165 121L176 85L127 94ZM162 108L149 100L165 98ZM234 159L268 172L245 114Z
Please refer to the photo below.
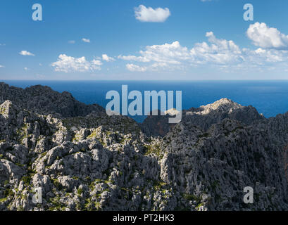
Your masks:
M247 30L253 44L263 49L288 49L288 36L265 23L254 23Z

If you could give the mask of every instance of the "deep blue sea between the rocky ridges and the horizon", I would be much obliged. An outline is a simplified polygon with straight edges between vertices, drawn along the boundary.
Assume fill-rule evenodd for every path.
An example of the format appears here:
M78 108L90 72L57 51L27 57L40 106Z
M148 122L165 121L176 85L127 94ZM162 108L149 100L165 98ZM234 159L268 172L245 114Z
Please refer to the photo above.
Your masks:
M104 108L106 93L119 91L182 91L182 108L199 107L220 98L230 98L241 105L253 105L265 117L288 111L288 81L22 81L5 80L6 84L25 88L36 84L50 86L55 91L69 91L83 103L97 103ZM142 122L144 117L134 117Z

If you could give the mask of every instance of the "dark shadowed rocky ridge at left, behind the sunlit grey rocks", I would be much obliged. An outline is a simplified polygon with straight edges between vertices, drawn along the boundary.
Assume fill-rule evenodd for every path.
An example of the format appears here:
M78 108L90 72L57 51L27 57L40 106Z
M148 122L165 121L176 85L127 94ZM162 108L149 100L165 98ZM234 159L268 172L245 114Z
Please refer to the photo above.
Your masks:
M77 117L89 113L105 113L100 105L85 105L64 91L58 93L49 86L31 86L21 89L8 84L0 83L0 103L10 100L20 108L25 108L42 115L54 117Z

